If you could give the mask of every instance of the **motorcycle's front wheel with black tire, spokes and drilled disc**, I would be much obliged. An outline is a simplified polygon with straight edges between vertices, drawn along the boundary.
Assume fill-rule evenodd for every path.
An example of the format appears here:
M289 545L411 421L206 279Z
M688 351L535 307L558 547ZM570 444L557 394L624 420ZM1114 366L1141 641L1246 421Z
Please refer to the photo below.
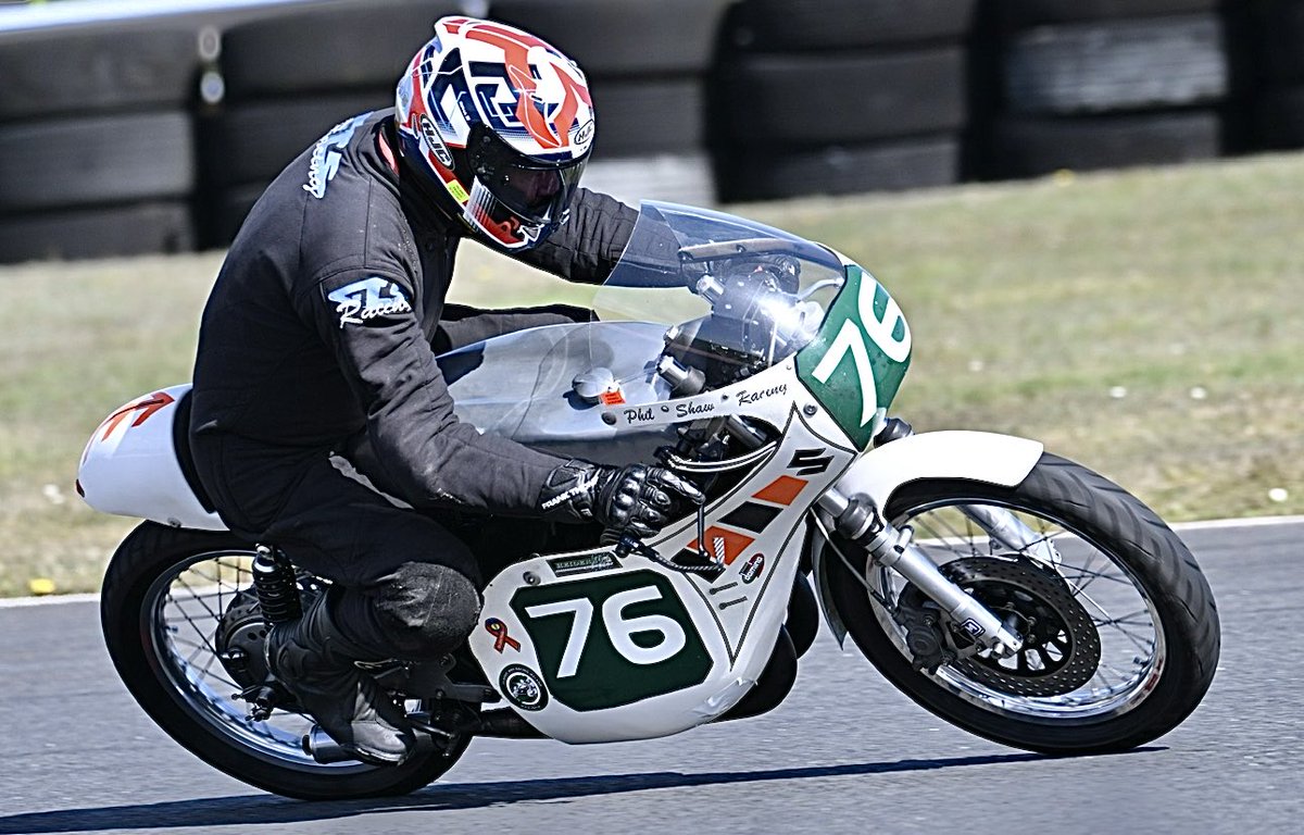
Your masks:
M1013 514L1035 541L1020 551L998 543L965 511L974 505ZM1119 752L1175 728L1209 689L1221 638L1200 566L1154 511L1090 470L1045 454L1013 488L914 481L884 514L909 524L943 574L1025 637L1022 651L998 659L971 646L966 654L962 634L947 635L955 656L915 669L901 621L922 595L863 552L829 556L837 611L857 646L947 721L1047 754Z

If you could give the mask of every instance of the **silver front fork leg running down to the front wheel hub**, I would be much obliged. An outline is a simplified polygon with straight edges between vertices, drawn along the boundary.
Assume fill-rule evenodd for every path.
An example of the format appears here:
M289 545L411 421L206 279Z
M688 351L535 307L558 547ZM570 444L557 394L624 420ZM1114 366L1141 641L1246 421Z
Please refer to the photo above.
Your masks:
M897 528L863 496L844 496L829 488L819 498L820 508L833 517L838 534L866 549L870 560L889 568L934 600L983 648L998 658L1018 652L1024 642L983 604L965 594L938 569L911 541L909 527Z

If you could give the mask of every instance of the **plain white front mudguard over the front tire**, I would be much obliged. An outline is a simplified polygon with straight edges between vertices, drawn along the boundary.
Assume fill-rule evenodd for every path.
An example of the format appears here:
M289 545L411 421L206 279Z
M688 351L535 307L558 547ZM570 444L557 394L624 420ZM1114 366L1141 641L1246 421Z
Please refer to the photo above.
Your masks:
M842 474L835 487L844 496L867 496L876 508L887 506L901 485L932 479L966 479L1016 487L1033 471L1042 457L1042 444L990 432L926 432L911 434L867 450ZM812 511L818 513L818 511ZM825 515L815 524L810 565L815 577L824 620L837 638L846 638L846 626L833 603L827 560L837 560L824 531L831 530Z

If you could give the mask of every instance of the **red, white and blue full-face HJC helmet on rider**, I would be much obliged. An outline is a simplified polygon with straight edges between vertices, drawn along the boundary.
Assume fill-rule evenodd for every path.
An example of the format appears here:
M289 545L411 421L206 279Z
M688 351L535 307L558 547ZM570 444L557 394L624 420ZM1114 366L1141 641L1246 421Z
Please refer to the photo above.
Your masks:
M399 149L436 201L506 250L566 220L593 145L579 67L505 23L445 17L395 97Z

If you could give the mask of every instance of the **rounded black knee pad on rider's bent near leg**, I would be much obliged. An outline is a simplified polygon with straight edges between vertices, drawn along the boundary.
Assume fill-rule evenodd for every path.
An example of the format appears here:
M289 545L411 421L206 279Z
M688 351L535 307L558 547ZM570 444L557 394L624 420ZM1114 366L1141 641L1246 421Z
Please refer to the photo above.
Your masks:
M404 562L379 591L377 615L404 658L439 658L467 639L480 618L480 592L446 565Z

